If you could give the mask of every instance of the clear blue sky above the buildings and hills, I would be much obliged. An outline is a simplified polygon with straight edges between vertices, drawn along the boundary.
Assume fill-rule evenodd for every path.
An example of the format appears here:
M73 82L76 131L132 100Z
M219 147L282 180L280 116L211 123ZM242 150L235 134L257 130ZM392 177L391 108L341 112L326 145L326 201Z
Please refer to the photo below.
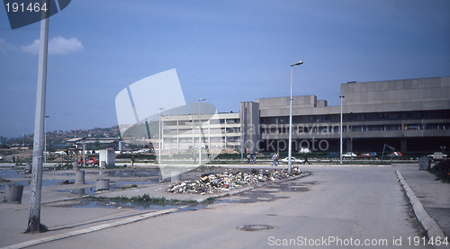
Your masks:
M34 129L40 24L0 8L0 136ZM186 102L316 94L339 84L450 76L450 1L73 0L49 19L48 130L117 124L124 87L176 68Z

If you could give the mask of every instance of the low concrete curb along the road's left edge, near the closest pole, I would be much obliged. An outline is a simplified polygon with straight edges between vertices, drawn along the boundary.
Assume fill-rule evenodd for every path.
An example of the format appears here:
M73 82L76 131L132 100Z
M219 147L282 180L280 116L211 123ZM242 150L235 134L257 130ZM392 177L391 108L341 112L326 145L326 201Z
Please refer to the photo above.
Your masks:
M180 209L182 209L182 208L180 208ZM151 218L151 217L157 217L157 216L160 216L160 215L173 213L173 212L175 212L177 210L178 209L165 209L165 210L149 212L149 213L146 213L146 214L136 215L136 216L133 216L133 217L130 217L130 218L124 218L124 219L121 219L119 221L115 221L115 222L112 222L112 223L102 224L102 225L98 225L98 226L94 226L94 227L87 227L85 229L71 231L71 232L67 232L67 233L64 233L64 234L59 234L59 235L54 235L54 236L47 236L47 237L42 237L42 238L38 238L38 239L33 239L33 240L30 240L30 241L25 241L23 243L19 243L19 244L15 244L15 245L8 245L8 246L2 247L0 249L15 249L15 248L25 248L25 247L29 247L29 246L33 246L33 245L40 245L40 244L51 242L51 241L55 241L55 240L58 240L58 239L63 239L63 238L71 237L71 236L84 235L84 234L92 233L92 232L103 230L103 229L110 228L110 227L118 227L118 226L121 226L121 225L130 224L132 222L136 222L136 221L139 221L139 220L142 220L142 219Z

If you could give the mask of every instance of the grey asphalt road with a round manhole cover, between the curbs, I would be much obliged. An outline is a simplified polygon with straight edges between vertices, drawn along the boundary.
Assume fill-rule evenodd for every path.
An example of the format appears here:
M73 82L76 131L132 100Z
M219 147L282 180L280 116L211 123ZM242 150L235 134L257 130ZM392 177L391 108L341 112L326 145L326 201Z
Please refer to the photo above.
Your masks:
M32 248L431 248L414 246L424 234L395 168L306 170L313 174L216 200L204 209ZM238 229L245 225L268 229Z

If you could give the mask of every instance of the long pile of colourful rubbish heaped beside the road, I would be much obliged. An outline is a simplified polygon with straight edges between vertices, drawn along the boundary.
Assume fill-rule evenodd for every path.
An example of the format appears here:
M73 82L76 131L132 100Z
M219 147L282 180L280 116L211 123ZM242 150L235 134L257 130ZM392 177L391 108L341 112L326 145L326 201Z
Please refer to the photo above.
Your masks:
M251 173L225 172L225 173L205 173L200 180L175 182L166 191L172 193L216 193L229 191L244 185L254 185L257 182L277 181L289 178L302 173L298 166L293 166L292 173L287 170L274 171L252 170Z

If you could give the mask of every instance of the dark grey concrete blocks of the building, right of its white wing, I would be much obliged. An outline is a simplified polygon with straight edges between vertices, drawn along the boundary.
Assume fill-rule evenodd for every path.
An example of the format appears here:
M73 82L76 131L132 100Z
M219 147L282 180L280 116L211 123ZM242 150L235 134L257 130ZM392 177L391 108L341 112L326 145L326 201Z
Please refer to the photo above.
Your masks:
M345 151L381 151L384 144L403 152L450 147L448 76L341 84L341 95ZM240 119L250 152L287 150L289 97L241 102ZM338 151L339 127L340 106L315 95L293 97L293 151Z

